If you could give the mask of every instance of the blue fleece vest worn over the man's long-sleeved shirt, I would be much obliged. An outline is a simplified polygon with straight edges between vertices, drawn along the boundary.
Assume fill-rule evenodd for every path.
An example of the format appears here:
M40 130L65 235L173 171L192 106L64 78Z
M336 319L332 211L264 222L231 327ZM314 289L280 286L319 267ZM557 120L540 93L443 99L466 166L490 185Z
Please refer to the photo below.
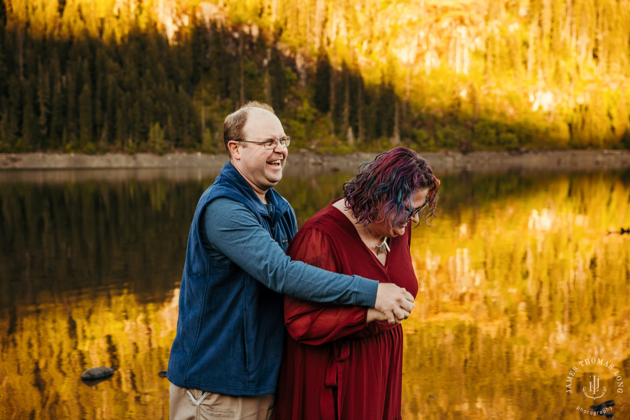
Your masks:
M219 394L272 394L284 343L283 297L236 264L217 263L203 248L200 215L219 197L248 207L284 251L296 233L287 200L273 188L267 192L275 208L270 219L251 186L226 162L201 196L190 227L167 377L179 387Z

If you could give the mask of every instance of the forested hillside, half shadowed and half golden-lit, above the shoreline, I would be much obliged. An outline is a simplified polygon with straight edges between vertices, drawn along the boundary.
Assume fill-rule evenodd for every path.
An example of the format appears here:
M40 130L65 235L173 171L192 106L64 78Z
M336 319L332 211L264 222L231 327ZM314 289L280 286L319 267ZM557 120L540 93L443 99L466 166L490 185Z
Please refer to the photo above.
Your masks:
M0 152L630 149L629 0L0 0Z

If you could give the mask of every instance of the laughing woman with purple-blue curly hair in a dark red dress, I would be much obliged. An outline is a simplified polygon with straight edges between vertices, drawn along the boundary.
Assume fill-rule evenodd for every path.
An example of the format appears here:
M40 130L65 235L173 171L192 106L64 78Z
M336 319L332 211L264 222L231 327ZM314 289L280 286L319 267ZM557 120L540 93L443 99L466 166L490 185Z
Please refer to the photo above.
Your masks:
M396 147L364 164L339 198L297 232L292 259L396 283L414 296L410 222L433 217L440 183L427 161ZM401 417L403 330L375 309L285 297L289 338L273 418Z

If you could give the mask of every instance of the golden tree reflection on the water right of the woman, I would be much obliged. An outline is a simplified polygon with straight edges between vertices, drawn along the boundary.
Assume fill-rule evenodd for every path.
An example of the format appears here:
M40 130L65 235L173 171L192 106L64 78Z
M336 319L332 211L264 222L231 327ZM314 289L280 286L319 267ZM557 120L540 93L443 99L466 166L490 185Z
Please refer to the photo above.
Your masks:
M539 187L415 230L405 419L561 418L592 404L564 392L577 361L630 372L630 237L619 235L630 185L593 175ZM628 411L626 395L609 398Z

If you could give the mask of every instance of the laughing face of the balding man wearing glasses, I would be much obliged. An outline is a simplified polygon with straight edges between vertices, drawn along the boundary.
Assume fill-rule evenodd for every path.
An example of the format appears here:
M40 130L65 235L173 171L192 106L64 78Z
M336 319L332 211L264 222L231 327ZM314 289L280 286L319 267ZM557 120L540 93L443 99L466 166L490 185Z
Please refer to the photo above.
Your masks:
M285 137L284 128L278 117L261 108L249 110L243 134L243 140L251 142ZM280 145L280 142L275 149L265 149L264 145L255 143L247 143L247 147L243 147L243 143L238 145L238 151L232 152L232 162L251 184L261 191L266 191L282 179L282 169L289 152L286 147Z

